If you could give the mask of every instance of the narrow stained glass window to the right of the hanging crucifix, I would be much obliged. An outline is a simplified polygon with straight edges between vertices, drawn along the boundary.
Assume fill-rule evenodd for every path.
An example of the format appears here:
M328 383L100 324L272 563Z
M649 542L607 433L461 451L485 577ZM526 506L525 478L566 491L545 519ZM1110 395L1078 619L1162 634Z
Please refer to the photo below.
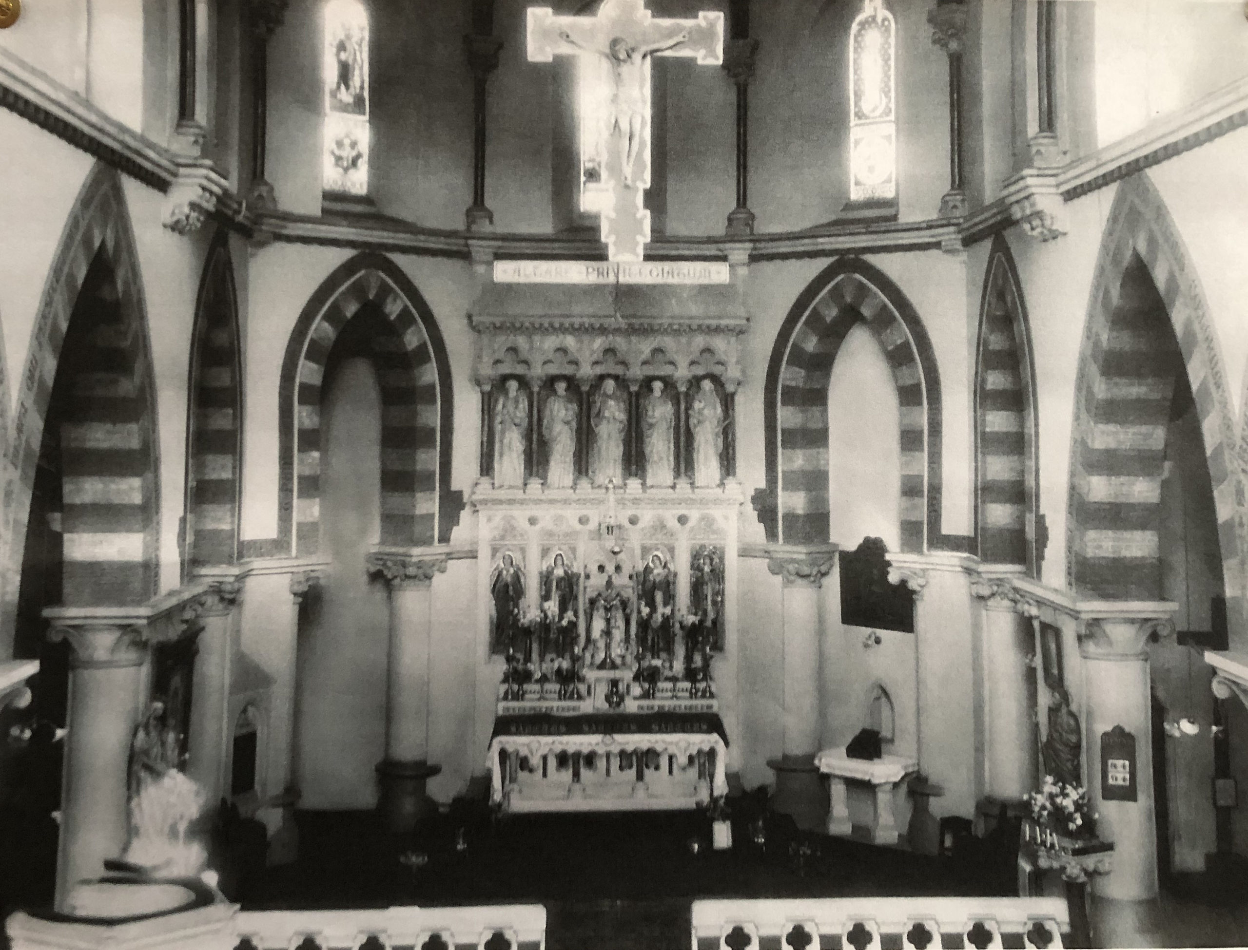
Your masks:
M850 27L850 202L897 197L897 31L882 0L864 0Z

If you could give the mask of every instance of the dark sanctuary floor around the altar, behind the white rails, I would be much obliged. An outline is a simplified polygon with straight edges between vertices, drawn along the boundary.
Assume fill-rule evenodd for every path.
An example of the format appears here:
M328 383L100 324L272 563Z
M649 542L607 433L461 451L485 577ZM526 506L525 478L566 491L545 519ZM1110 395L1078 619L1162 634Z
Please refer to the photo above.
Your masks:
M769 823L760 848L736 823L736 848L714 852L705 819L688 813L443 814L419 839L387 835L368 812L301 812L297 825L300 860L263 871L240 895L246 909L540 903L548 950L684 950L695 898L1008 895L1015 884L1012 863L982 843L930 858ZM1248 875L1233 865L1177 876L1158 901L1094 900L1092 921L1101 946L1248 945Z

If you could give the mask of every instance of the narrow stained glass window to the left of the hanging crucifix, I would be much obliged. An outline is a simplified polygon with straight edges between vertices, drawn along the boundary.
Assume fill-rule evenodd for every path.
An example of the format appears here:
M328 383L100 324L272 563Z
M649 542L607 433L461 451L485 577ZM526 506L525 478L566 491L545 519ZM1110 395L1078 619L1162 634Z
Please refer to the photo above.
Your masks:
M324 5L324 145L321 187L368 194L368 11L358 0Z

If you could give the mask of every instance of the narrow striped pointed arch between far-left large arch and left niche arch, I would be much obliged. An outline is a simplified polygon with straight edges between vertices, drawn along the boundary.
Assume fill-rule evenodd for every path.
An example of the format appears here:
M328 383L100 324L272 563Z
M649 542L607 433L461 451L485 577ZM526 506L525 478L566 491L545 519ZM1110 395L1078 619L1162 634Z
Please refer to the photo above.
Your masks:
M186 562L193 570L238 557L242 367L230 234L208 247L195 304L186 421Z

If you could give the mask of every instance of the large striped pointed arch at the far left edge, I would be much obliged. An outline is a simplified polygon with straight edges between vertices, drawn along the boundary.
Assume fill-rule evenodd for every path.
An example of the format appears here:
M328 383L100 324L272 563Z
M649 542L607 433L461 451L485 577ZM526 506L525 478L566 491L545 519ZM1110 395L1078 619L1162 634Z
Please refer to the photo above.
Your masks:
M80 319L74 319L80 317ZM44 283L9 460L9 576L21 576L40 453L61 454L65 603L131 605L157 591L160 443L146 304L121 180L87 173ZM46 433L54 389L61 431ZM16 583L5 591L6 611ZM9 620L6 616L6 622Z

